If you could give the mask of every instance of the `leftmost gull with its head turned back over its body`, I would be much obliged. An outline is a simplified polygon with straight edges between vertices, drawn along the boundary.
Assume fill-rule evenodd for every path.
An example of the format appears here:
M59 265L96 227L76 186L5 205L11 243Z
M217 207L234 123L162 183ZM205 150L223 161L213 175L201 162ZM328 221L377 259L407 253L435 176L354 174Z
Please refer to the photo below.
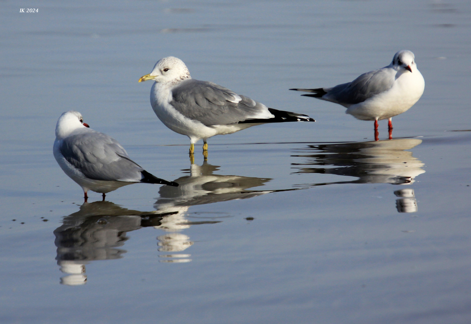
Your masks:
M178 186L159 179L129 158L120 143L104 133L94 131L83 122L81 113L66 111L57 120L54 158L84 192L105 194L131 183L158 183Z

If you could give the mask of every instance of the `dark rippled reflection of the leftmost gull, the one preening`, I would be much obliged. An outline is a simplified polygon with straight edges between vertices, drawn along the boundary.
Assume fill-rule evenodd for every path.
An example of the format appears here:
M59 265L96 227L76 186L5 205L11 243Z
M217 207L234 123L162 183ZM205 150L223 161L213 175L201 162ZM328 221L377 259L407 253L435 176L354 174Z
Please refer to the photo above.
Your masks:
M69 274L61 278L61 283L85 283L85 264L89 261L122 258L126 251L117 248L128 240L126 232L141 228L143 222L153 218L158 221L162 216L155 211L121 208L109 201L84 203L78 212L65 216L54 231L57 264Z

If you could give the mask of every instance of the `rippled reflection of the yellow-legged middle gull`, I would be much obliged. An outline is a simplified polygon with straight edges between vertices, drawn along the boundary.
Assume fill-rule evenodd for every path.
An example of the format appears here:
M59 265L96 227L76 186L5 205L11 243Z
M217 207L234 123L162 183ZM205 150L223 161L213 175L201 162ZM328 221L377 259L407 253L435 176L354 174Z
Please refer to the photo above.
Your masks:
M190 175L180 177L175 181L179 183L178 187L162 186L159 189L160 198L154 204L154 208L161 213L172 213L165 217L161 225L155 228L162 229L168 233L157 237L159 240L159 251L176 252L183 251L190 247L193 242L190 238L182 233L177 233L183 229L190 227L192 224L208 224L219 223L215 219L224 216L210 216L212 219L201 220L201 216L189 216L188 208L194 205L211 204L214 202L227 201L232 199L247 199L260 196L274 191L253 191L247 190L252 187L265 185L271 179L244 177L239 175L220 175L213 174L219 170L219 166L212 166L206 161L202 166L192 164L190 169L183 170ZM292 190L292 189L288 189ZM187 218L198 219L198 221L190 221ZM207 219L206 217L205 219ZM178 258L179 254L161 255L160 257ZM173 259L162 262L188 262L187 259Z

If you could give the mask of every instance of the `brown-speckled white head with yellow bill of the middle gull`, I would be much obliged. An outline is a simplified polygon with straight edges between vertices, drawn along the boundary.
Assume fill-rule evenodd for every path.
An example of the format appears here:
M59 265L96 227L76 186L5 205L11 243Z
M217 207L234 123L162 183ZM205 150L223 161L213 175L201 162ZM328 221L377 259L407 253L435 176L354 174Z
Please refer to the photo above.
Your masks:
M185 63L179 58L169 56L159 59L152 72L141 76L138 82L154 80L158 83L178 83L185 79L191 79Z

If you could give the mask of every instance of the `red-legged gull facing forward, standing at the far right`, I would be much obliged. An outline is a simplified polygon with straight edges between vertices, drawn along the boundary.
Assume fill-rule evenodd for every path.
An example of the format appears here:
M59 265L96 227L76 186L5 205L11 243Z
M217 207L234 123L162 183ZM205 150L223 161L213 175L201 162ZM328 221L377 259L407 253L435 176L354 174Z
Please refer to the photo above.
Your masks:
M303 96L338 103L347 108L346 114L374 120L374 136L378 141L378 120L389 120L389 138L392 139L391 118L411 108L422 96L424 86L414 53L400 50L390 65L364 73L352 82L332 88L290 90L312 92Z

